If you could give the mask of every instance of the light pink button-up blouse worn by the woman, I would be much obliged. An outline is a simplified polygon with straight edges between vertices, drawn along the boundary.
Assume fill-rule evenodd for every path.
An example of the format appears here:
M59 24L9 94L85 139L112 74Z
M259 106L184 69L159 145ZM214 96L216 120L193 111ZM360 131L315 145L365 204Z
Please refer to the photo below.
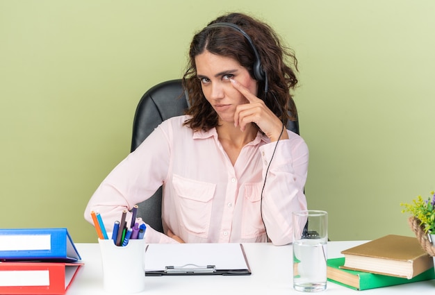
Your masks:
M93 194L85 219L92 223L90 212L99 212L110 234L122 210L163 185L163 229L185 242L292 242L291 213L306 210L309 151L302 137L287 131L289 139L277 144L258 132L231 165L215 128L194 132L183 126L187 118L164 121L120 162ZM145 242L174 239L147 226Z

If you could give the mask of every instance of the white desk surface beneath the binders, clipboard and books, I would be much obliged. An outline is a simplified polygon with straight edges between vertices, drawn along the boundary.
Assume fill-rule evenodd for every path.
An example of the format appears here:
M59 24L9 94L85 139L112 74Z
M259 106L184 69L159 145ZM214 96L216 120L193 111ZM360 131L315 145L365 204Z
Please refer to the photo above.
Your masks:
M328 257L342 256L340 251L362 242L329 242ZM292 246L243 244L252 275L250 276L149 276L147 289L138 294L303 294L293 289ZM85 266L69 287L67 295L108 294L103 289L101 258L98 244L76 244ZM328 282L318 294L434 294L435 280L392 287L356 291Z

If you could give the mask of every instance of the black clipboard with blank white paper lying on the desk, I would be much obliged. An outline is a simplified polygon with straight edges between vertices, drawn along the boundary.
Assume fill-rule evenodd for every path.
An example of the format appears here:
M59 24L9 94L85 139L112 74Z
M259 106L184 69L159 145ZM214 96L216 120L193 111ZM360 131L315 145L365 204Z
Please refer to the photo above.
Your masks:
M242 244L149 244L145 276L249 276Z

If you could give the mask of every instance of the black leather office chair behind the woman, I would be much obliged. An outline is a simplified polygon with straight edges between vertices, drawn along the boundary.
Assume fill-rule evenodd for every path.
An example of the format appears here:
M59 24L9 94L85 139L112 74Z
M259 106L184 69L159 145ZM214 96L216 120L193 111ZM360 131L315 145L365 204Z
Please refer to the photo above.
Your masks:
M183 115L188 108L186 92L181 79L165 81L151 87L142 96L133 120L131 151L134 151L161 122ZM288 121L287 129L299 134L298 121ZM138 204L138 217L155 230L163 233L161 208L162 187L151 198Z

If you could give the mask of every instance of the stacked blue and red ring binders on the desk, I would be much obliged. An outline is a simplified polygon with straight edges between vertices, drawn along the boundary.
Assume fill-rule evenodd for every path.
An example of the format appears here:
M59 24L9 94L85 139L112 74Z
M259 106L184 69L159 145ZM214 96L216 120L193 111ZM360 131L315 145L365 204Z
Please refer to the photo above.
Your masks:
M66 228L0 229L0 294L65 294L79 260Z

